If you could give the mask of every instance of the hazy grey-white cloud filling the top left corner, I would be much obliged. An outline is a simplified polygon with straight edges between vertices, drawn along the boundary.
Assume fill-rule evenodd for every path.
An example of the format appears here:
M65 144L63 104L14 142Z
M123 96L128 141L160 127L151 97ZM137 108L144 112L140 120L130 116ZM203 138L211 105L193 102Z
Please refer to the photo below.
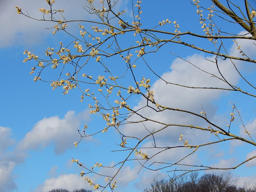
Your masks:
M95 1L94 4L96 7L102 6L99 1ZM126 2L122 2L122 4L125 6ZM120 8L122 4L117 4L117 8ZM52 8L56 10L64 9L64 17L66 20L81 20L81 18L85 18L85 20L91 20L92 18L94 18L94 20L97 19L96 15L90 14L84 9L85 5L88 5L85 1L73 0L71 2L68 0L61 0L56 1ZM18 14L15 6L21 7L22 12L25 14L28 12L29 16L37 18L39 21ZM45 29L53 27L53 23L40 21L43 18L43 13L38 9L50 9L46 1L2 1L1 8L0 23L4 25L4 27L2 27L1 30L0 47L10 47L13 44L26 44L27 46L28 44L39 45L43 42L44 37L53 32L53 29ZM48 19L48 16L49 15L45 15L45 19ZM63 18L56 16L56 14L54 17L57 20L63 20Z

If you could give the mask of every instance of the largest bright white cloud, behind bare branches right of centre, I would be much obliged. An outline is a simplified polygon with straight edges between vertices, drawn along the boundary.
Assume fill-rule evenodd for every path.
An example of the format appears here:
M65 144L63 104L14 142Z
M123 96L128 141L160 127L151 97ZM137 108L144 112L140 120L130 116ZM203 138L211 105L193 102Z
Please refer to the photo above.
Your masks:
M208 71L209 73L219 75L219 72L216 68L216 65L208 60L214 60L215 57L205 58L202 55L192 55L186 58L189 62L196 64L197 67L202 68L203 70ZM226 79L230 80L232 84L236 84L239 80L239 75L235 73L232 64L228 61L219 61L220 70ZM164 73L161 78L171 82L182 84L186 86L200 86L200 87L224 87L229 88L227 84L223 83L221 80L212 77L210 74L206 74L203 71L195 68L188 62L176 59L172 62L171 71ZM207 113L208 118L212 119L217 111L216 106L213 105L212 100L220 98L223 90L212 90L212 89L189 89L181 86L171 85L160 79L158 79L152 86L151 90L155 91L155 101L163 106L168 106L172 108L181 108L185 110L194 111L200 113L202 111L201 104ZM141 100L136 106L136 109L139 109L146 105L144 100ZM202 125L200 118L195 118L192 115L175 112L170 110L165 110L164 112L154 113L152 109L144 108L139 111L143 116L146 116L150 119L164 123L173 123L173 124L193 124L193 125ZM134 116L129 119L129 121L136 121L140 118ZM161 126L152 122L146 122L146 127L151 131L153 128L157 129ZM205 124L204 124L205 126ZM177 139L177 128L166 128L170 133L168 137L171 139ZM173 131L175 130L176 131ZM179 129L180 130L180 129ZM140 127L134 125L129 127L129 129L124 130L125 134L137 132L137 135L144 135L148 133L143 126ZM184 129L186 132L186 129ZM202 132L201 132L202 133ZM159 133L161 134L161 133ZM166 132L164 132L166 134ZM183 131L182 131L183 134ZM184 133L185 134L185 133ZM179 137L179 134L178 134ZM195 137L194 137L195 138ZM179 138L178 138L179 139Z

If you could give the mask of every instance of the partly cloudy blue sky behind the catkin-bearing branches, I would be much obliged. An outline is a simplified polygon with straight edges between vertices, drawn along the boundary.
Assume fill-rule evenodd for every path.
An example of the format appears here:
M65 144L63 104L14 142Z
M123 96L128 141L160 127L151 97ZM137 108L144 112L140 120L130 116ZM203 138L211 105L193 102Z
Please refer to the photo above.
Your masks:
M102 117L89 114L90 109L88 108L87 100L79 102L81 92L78 89L63 95L62 88L53 91L50 83L34 82L35 75L29 75L34 64L32 62L22 62L26 57L23 54L25 49L38 56L44 56L47 47L58 47L60 41L72 40L70 40L69 36L63 34L58 35L56 33L53 36L52 29L45 29L52 26L50 23L31 20L16 12L15 6L19 6L22 7L22 11L28 11L31 16L40 17L42 13L38 9L47 8L47 3L44 0L32 2L28 0L1 1L0 4L2 8L0 12L2 23L2 36L0 37L0 50L2 53L0 65L2 78L2 90L0 92L2 109L0 111L0 192L43 192L52 188L67 188L69 190L75 188L92 189L79 175L79 172L83 169L71 162L72 157L79 159L83 165L88 167L93 166L96 162L102 162L105 166L114 165L122 161L125 155L124 152L111 152L111 150L120 149L116 145L120 141L120 136L115 132L109 131L107 136L99 135L86 138L76 148L74 147L74 142L80 140L77 129L82 130L85 123L95 130L100 129L105 126ZM57 9L65 9L64 13L70 20L79 18L95 19L84 11L82 7L84 4L84 1L78 0L72 1L72 3L66 0L56 0L54 6ZM180 5L173 7L169 1L163 1L163 4L165 6L156 6L155 1L142 3L143 14L141 20L144 26L150 28L156 26L158 21L168 18L172 22L176 20L179 23L180 31L197 32L201 30L196 8L188 1L181 1L182 12ZM116 7L117 9L126 10L125 19L132 21L130 1L122 0ZM172 7L171 10L170 7ZM71 31L74 28L74 33L76 31L79 33L80 31L76 24L71 24L69 27L72 27L72 29L69 28ZM228 24L223 25L223 30L225 29L230 30L230 26ZM161 28L161 30L174 31L175 28L173 24L170 24ZM232 32L243 34L242 28L239 26L232 28ZM188 39L188 41L193 40L194 38ZM244 52L255 59L255 45L250 41L237 41ZM127 46L130 43L130 38L124 38L121 46ZM196 43L198 46L212 46L207 43L205 45L205 42ZM236 44L232 40L225 41L225 43L231 55L239 55ZM197 66L205 70L217 73L216 67L206 60L213 60L214 57L184 46L172 47L170 45L162 47L156 54L148 55L148 63L162 78L169 82L193 84L194 86L226 86L209 78L189 65L188 62L178 59L170 52L196 63ZM136 55L135 52L133 54ZM109 67L116 74L122 74L124 73L124 68L122 68L124 63L120 56L118 57L113 57ZM208 114L208 118L223 127L229 124L230 113L232 112L232 104L230 102L235 103L241 113L243 123L251 132L251 136L255 138L256 109L253 98L237 92L188 90L172 85L166 89L165 83L159 80L157 76L154 76L143 64L140 64L143 63L141 60L138 60L137 63L137 68L134 70L135 75L145 75L151 79L152 90L156 92L155 98L159 103L165 103L173 108L192 110L196 113L202 111L202 105ZM241 62L236 62L236 64L244 76L255 84L255 66L253 64L243 65ZM101 68L96 65L92 63L86 70L89 70L95 76L99 75ZM241 77L234 71L228 61L220 61L220 68L229 81L255 94L255 91L251 90L241 80ZM53 75L56 74L49 71L44 77L52 80ZM124 82L124 84L128 84L127 82ZM87 89L87 87L84 87L84 89ZM140 97L134 97L130 105L134 108L140 108L143 106L143 101ZM151 118L160 119L163 122L173 121L182 124L191 124L192 122L205 126L198 119L176 112L158 115L145 110L143 114ZM137 120L136 118L132 117L131 119L135 121ZM145 125L151 129L158 126L147 123ZM231 128L234 129L234 134L247 138L237 114ZM88 131L90 132L89 129ZM142 137L147 133L145 129L141 129L140 125L131 127L125 125L123 131L127 135L136 133L135 135L138 137ZM179 130L175 129L173 132L164 131L157 134L157 144L162 146L178 143L179 134L177 135L177 132ZM182 134L188 136L192 132L185 130ZM201 132L193 134L195 135L190 135L191 138L188 139L191 143L201 143L216 139L210 134L204 135L203 133L202 135ZM151 143L152 140L146 140L141 146L149 147ZM145 151L149 155L156 152ZM188 162L195 164L208 163L208 165L212 166L234 166L238 162L244 161L246 157L255 155L255 153L255 148L248 144L230 141L202 148L200 153L189 158ZM157 156L154 161L175 161L176 158L184 154L186 154L186 151L183 150L168 151ZM185 161L184 163L188 162ZM256 179L255 165L256 160L252 160L230 172L239 175L239 184L243 185L244 181L254 181ZM167 178L168 174L172 175L172 172L166 172L168 170L151 172L144 169L137 174L139 169L140 164L136 162L125 164L123 170L117 176L118 187L116 191L142 191L149 186L154 177L161 179ZM100 173L103 174L104 172L106 171L100 170ZM92 180L97 182L101 179L92 176Z

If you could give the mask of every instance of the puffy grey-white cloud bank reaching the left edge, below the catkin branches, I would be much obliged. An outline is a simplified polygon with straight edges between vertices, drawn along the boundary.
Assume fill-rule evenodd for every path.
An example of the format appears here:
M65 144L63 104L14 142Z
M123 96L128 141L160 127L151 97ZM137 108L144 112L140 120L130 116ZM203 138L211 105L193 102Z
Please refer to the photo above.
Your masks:
M75 115L75 111L68 111L64 118L52 116L36 123L26 136L16 143L12 151L6 151L14 144L11 129L0 126L0 192L16 189L14 167L24 163L28 150L55 146L55 153L60 154L74 146L79 134L77 129L82 120L89 121L88 111ZM55 175L57 167L53 166L49 174ZM75 188L74 188L75 189Z

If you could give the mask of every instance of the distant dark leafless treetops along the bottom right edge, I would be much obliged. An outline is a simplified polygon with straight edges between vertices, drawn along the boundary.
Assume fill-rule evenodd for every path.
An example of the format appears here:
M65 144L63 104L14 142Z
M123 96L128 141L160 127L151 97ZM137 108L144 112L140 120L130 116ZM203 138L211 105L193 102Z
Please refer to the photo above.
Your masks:
M192 172L172 181L172 179L154 179L150 188L143 192L256 192L256 183L244 183L243 187L237 186L239 177L232 174L204 174Z

